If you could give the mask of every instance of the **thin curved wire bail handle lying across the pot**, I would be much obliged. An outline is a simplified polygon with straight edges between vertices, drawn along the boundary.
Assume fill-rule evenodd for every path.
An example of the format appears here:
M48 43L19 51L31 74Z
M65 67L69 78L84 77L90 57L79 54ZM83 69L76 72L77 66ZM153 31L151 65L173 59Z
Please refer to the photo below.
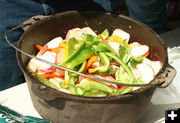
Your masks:
M7 41L7 43L13 47L14 49L16 49L18 52L21 52L22 54L26 55L26 56L29 56L30 58L33 58L33 59L36 59L36 60L39 60L41 62L44 62L46 64L49 64L49 65L52 65L56 68L60 68L62 70L66 70L68 72L72 72L72 73L75 73L75 74L78 74L80 76L84 76L84 77L87 77L87 78L91 78L91 79L94 79L94 80L97 80L97 81L101 81L101 82L106 82L106 83L110 83L110 84L116 84L116 85L122 85L122 86L131 86L131 87L140 87L140 86L158 86L159 84L151 84L151 83L148 83L148 84L125 84L125 83L120 83L118 81L110 81L110 80L106 80L106 79L101 79L99 77L94 77L94 76L89 76L87 74L83 74L83 73L80 73L80 72L77 72L77 71L73 71L71 69L68 69L68 68L65 68L63 66L60 66L60 65L57 65L57 64L54 64L52 62L49 62L47 60L44 60L44 59L41 59L41 58L38 58L36 56L33 56L33 55L30 55L29 53L26 53L25 51L19 49L18 47L16 47L14 44L12 44L9 39L8 39L8 34L13 32L14 30L16 29L19 29L19 28L23 28L27 25L31 25L31 23L28 23L28 24L22 24L22 25L19 25L19 26L16 26L16 27L13 27L12 29L8 30L7 32L5 32L5 39Z

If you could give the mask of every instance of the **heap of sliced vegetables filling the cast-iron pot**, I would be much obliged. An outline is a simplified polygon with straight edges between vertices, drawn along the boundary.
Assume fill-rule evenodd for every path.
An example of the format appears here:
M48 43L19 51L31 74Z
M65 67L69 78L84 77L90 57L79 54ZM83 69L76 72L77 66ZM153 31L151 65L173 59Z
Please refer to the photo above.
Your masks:
M151 82L162 65L148 59L150 47L140 42L128 43L130 35L115 29L96 34L91 28L74 28L66 38L56 37L46 45L35 44L37 57L69 69L126 84ZM54 89L81 96L121 95L138 87L107 84L61 70L31 59L27 69L42 83Z

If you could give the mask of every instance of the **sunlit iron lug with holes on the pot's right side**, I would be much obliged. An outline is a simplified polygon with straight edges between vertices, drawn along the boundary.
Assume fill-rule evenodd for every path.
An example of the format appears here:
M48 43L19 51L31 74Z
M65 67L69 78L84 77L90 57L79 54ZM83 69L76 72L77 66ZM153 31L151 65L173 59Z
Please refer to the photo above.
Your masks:
M176 70L171 65L167 64L164 72L157 77L158 88L165 88L173 81L176 75Z

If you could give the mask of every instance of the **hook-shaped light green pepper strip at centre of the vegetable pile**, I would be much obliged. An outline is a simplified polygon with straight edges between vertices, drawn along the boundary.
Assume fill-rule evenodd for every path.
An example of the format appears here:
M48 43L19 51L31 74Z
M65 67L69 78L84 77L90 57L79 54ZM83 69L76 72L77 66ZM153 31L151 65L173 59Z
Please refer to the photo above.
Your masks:
M106 56L106 54L104 52L100 52L99 57L104 65L96 68L96 71L99 71L99 72L108 71L108 68L110 65L110 61L109 61L108 57Z

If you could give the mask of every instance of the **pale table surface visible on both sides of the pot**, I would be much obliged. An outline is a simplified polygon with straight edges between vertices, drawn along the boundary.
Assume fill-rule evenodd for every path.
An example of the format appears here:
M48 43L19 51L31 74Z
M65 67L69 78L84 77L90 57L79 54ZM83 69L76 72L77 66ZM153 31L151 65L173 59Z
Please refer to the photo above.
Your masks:
M167 47L180 46L180 28L166 32L160 36ZM23 115L41 118L33 107L26 83L1 91L0 104ZM175 104L153 104L151 102L138 123L164 123L165 110L168 108L180 108L180 102Z

